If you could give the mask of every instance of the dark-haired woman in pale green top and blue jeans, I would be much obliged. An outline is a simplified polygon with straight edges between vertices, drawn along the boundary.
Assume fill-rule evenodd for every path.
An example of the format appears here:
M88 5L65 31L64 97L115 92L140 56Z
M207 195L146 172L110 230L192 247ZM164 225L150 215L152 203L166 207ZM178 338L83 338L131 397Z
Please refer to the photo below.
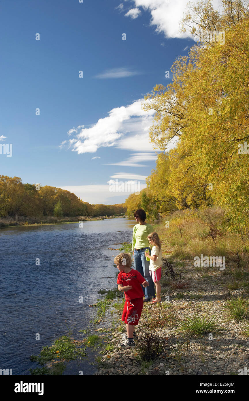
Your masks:
M146 213L143 209L138 209L134 213L134 217L138 224L133 227L133 237L132 237L132 250L133 250L133 260L135 270L145 277L149 286L143 288L145 294L144 302L149 302L151 298L155 297L155 288L152 277L149 273L150 261L146 260L145 249L149 249L151 254L151 249L149 247L148 235L153 233L153 227L151 224L145 223Z

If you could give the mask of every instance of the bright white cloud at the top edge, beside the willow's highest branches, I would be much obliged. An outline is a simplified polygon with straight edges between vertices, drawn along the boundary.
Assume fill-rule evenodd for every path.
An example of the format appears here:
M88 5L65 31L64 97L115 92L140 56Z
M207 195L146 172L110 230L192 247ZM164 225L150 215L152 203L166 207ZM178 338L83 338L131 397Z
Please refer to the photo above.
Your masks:
M179 32L183 14L187 11L187 0L132 0L132 2L136 7L143 7L151 12L150 25L156 26L156 32L164 33L167 38L193 39L189 32ZM197 3L196 0L193 2ZM220 0L212 0L212 4L215 9L222 9Z

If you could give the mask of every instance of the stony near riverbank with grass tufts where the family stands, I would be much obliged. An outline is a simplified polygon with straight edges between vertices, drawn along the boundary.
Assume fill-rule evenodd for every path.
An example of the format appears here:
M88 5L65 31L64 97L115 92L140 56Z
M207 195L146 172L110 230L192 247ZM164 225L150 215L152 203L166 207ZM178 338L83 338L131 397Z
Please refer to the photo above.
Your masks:
M185 219L180 223L182 229L178 233L182 242L179 244L179 239L177 243L175 235L175 246L171 245L173 238L168 237L171 231L165 230L164 225L155 227L162 239L163 257L167 259L161 279L162 302L144 304L136 328L137 348L118 348L123 342L125 324L120 319L123 304L114 301L116 324L108 348L99 355L95 375L244 374L249 363L247 259L243 255L238 264L238 260L230 258L225 269L194 265L195 260L187 258L185 251L188 244L183 225L186 228L188 222ZM171 230L174 231L173 224ZM204 241L207 253L203 253L212 255L213 248L208 249L207 245ZM175 256L179 254L179 246L184 258ZM215 254L220 255L219 249ZM151 352L153 347L158 350L156 354Z

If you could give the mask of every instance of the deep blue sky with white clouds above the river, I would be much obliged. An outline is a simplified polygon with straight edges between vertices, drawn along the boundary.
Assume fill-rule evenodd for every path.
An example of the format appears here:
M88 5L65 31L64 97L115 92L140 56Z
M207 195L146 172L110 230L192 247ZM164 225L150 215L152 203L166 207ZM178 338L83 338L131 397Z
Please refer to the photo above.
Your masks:
M0 2L0 144L12 144L0 174L90 203L125 201L130 192L110 192L110 180L144 187L156 152L141 100L195 43L178 33L185 3Z

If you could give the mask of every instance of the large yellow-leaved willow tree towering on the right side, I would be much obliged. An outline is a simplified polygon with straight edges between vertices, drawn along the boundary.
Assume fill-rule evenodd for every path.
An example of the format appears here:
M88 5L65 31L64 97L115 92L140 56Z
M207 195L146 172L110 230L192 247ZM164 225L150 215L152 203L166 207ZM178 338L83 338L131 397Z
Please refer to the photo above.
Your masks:
M150 130L155 147L165 150L179 138L177 152L185 176L212 184L212 198L226 207L230 228L247 229L249 211L249 19L243 2L223 0L222 14L210 2L195 8L185 25L223 30L225 43L197 43L172 66L173 82L157 85L145 97L145 110L156 111ZM235 18L236 17L236 18ZM242 145L244 152L242 153ZM169 183L172 186L172 182ZM186 183L187 185L187 183Z

